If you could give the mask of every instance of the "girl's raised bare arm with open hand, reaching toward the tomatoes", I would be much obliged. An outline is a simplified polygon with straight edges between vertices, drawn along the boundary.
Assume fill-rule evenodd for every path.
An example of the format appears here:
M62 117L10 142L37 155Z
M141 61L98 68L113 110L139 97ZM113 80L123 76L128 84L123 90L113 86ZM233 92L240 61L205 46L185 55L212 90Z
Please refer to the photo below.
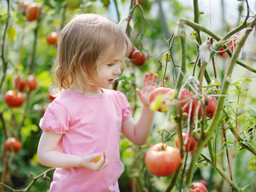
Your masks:
M136 89L136 92L143 104L139 121L136 123L131 117L122 123L123 135L134 144L143 145L151 132L154 122L155 111L150 109L148 96L156 88L158 75L153 72L146 73L143 81L143 91Z

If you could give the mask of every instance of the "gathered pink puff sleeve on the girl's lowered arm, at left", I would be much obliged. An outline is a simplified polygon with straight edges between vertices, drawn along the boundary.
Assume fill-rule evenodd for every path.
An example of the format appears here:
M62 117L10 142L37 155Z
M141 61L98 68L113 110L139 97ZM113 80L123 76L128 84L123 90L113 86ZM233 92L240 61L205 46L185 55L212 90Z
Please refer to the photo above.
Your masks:
M69 128L70 115L67 109L53 101L46 109L44 117L41 118L39 127L43 131L55 133L66 133Z

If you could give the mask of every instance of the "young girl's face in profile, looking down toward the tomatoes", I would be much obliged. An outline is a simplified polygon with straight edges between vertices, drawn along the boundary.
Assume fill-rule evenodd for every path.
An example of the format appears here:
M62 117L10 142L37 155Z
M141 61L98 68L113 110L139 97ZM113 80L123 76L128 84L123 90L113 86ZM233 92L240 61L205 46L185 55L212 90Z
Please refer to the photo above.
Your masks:
M111 55L113 49L109 49L105 56L99 61L98 72L100 84L97 84L100 88L108 89L114 82L115 78L120 75L121 70L119 64L125 56L126 50L124 50L120 55L117 55L113 59L109 60L108 56Z

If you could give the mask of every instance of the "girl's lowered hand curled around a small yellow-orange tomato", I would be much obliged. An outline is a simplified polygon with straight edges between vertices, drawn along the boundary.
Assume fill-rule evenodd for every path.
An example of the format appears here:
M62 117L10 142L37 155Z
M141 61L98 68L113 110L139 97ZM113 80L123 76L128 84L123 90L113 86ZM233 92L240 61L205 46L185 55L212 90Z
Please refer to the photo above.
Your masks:
M100 156L100 160L94 162L94 159ZM101 153L94 153L92 155L86 155L82 158L81 162L83 167L87 167L94 171L100 171L104 169L108 165L108 151L104 151Z

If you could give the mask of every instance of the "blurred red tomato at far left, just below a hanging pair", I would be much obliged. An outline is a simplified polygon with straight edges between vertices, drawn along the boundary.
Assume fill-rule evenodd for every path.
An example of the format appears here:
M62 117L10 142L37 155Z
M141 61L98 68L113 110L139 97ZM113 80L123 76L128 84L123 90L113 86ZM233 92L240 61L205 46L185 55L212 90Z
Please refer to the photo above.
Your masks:
M21 92L9 90L4 94L4 101L9 107L20 107L24 102L24 97Z

